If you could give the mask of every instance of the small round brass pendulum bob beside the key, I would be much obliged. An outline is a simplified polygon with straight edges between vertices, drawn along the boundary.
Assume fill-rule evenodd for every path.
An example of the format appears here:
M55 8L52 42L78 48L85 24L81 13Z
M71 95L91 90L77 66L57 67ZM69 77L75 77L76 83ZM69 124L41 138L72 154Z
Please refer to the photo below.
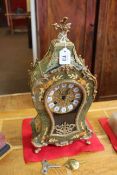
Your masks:
M65 167L70 169L70 170L77 170L80 167L80 163L75 159L70 159L65 164Z

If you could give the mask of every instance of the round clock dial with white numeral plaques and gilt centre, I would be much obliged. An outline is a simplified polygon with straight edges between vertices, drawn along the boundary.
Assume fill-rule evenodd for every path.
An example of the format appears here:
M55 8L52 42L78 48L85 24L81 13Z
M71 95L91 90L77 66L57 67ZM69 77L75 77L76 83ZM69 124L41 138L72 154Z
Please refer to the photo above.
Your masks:
M61 83L49 89L46 102L51 112L63 114L71 112L80 104L82 92L76 83Z

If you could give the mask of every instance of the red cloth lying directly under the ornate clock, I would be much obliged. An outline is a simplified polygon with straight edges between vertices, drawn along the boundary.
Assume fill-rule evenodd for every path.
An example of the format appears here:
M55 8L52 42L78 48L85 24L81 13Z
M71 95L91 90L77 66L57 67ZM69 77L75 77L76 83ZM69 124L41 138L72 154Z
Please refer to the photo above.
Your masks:
M22 141L23 141L23 153L24 160L28 162L39 162L42 160L52 160L60 157L74 156L81 152L94 152L103 151L104 147L96 137L94 133L91 141L91 145L86 145L84 140L75 141L70 145L59 147L54 145L48 145L42 148L38 153L34 153L34 147L31 144L32 130L30 122L32 119L24 119L22 125Z

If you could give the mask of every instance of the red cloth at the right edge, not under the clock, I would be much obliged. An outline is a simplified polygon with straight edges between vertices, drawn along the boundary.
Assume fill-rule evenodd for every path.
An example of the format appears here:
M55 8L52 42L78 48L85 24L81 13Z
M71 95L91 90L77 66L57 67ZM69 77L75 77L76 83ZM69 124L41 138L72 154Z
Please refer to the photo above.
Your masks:
M115 151L117 151L117 137L113 133L113 131L109 125L108 118L106 118L106 117L100 118L99 122L100 122L102 128L104 129L104 131L106 132L106 134L108 135L108 137L112 143L113 148L115 149Z

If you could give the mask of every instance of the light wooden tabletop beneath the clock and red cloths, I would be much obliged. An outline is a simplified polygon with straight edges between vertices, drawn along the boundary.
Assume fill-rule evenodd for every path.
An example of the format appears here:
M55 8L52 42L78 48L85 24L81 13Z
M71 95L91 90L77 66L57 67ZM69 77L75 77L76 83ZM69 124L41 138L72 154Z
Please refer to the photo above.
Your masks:
M110 141L100 124L98 118L109 117L117 111L117 101L95 102L91 106L87 117L92 124L105 151L96 153L82 153L74 156L79 162L84 162L76 172L67 172L60 169L49 170L49 175L117 175L117 154L113 150ZM0 131L6 134L6 138L13 146L13 150L0 161L0 175L40 175L41 163L25 164L22 152L21 127L22 120L34 117L36 111L33 107L31 96L19 94L0 97ZM63 165L68 157L50 161Z

